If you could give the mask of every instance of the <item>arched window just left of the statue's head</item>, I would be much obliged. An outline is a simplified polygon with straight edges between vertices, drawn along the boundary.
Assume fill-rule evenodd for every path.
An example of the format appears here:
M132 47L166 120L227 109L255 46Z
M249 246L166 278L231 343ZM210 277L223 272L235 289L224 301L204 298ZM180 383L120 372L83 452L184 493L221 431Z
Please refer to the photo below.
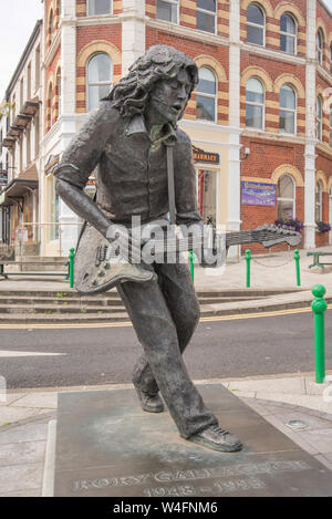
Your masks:
M94 54L87 63L86 70L87 84L87 111L97 107L102 97L105 97L112 86L113 63L105 53Z

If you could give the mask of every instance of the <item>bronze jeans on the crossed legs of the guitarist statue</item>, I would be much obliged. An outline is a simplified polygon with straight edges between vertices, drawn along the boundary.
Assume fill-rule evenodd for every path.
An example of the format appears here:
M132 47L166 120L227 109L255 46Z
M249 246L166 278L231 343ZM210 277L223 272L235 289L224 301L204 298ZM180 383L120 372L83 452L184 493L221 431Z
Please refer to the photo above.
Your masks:
M133 380L151 395L160 390L180 435L188 438L218 423L181 357L199 320L199 303L187 264L154 263L146 268L155 270L158 281L117 287L144 347Z

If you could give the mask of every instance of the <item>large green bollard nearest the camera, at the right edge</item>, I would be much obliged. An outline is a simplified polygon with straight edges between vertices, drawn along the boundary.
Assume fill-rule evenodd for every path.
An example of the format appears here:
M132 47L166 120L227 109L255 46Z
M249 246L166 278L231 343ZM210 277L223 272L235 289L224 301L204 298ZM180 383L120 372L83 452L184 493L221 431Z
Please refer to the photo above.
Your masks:
M328 308L323 295L326 290L322 284L315 284L311 289L314 299L311 308L314 313L314 357L315 357L315 382L322 384L325 378L325 330L324 312Z

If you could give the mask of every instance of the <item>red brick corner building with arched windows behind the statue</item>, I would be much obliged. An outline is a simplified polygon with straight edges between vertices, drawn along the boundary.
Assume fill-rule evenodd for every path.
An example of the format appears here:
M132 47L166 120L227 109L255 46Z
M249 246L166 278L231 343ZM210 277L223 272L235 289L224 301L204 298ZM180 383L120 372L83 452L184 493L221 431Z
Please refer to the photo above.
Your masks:
M68 253L76 236L76 217L53 190L54 164L98 98L157 43L199 68L180 126L196 148L204 218L228 230L298 219L303 247L331 240L317 227L332 222L332 17L323 1L44 0L43 31L40 208L59 226L44 233L42 253Z

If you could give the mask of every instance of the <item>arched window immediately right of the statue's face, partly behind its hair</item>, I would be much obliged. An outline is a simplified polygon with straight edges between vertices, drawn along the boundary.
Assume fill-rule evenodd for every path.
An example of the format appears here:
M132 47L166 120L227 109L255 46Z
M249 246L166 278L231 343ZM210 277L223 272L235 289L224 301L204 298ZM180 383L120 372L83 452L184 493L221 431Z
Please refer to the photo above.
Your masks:
M216 121L217 81L214 72L206 66L198 71L196 118Z

